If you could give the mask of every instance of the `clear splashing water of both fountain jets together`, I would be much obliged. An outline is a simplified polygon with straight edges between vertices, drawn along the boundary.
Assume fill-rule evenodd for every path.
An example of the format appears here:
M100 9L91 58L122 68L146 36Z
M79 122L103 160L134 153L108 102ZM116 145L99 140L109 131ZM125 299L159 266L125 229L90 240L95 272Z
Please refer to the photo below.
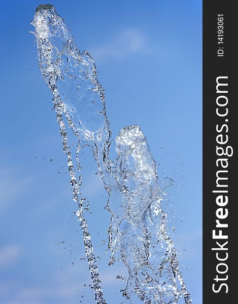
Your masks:
M92 57L87 51L79 51L70 29L52 5L40 5L32 25L36 29L40 69L53 94L95 301L106 303L84 217L85 199L80 193L80 153L85 146L92 148L98 172L109 194L109 249L112 253L109 265L121 261L128 270L127 279L118 277L127 282L122 290L125 299L136 294L148 304L175 304L181 297L186 304L191 303L179 270L176 249L166 233L166 214L160 204L162 193L173 180L158 178L146 137L139 126L120 131L116 137L118 157L115 162L110 160L111 131L105 92L97 80ZM77 170L67 145L63 116L78 138Z

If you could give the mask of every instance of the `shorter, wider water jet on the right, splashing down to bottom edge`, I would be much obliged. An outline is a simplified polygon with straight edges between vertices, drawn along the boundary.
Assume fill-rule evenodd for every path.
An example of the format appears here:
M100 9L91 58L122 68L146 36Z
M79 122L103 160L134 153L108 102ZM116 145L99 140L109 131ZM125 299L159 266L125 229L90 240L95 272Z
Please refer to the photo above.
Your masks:
M123 128L116 137L116 174L126 186L123 196L110 196L112 212L110 249L122 260L129 278L123 291L137 293L145 303L177 303L183 295L191 303L179 270L177 252L167 235L161 194L174 182L158 179L154 159L139 126Z

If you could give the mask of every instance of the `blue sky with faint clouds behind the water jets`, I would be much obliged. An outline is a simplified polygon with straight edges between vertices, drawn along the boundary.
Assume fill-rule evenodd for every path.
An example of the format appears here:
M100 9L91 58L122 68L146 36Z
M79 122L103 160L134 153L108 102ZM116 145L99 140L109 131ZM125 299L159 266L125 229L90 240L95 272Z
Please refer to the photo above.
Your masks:
M79 49L95 60L113 137L140 125L158 175L175 180L163 207L175 226L187 287L201 303L201 1L51 3ZM29 33L39 4L5 2L0 13L0 297L3 304L93 303L52 97ZM107 196L92 157L83 164L105 297L120 303L124 285L115 276L124 270L107 266L101 244L110 220L103 210Z

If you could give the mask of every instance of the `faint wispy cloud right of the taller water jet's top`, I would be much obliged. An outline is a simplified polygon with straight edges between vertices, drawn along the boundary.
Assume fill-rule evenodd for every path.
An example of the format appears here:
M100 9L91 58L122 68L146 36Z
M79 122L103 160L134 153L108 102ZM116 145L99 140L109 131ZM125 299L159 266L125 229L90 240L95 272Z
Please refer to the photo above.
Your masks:
M109 59L124 59L133 54L145 54L152 51L146 34L138 29L128 28L117 34L113 39L97 48L92 48L90 53L98 61Z

